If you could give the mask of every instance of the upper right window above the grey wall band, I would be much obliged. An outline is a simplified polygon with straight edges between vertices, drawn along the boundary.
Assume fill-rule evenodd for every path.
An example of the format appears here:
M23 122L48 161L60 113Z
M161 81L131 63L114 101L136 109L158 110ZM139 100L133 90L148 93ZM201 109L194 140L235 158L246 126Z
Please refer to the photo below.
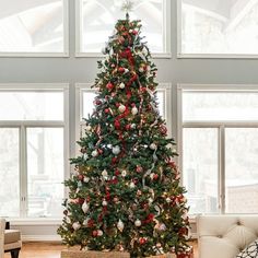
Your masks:
M179 57L258 55L258 1L178 0Z

